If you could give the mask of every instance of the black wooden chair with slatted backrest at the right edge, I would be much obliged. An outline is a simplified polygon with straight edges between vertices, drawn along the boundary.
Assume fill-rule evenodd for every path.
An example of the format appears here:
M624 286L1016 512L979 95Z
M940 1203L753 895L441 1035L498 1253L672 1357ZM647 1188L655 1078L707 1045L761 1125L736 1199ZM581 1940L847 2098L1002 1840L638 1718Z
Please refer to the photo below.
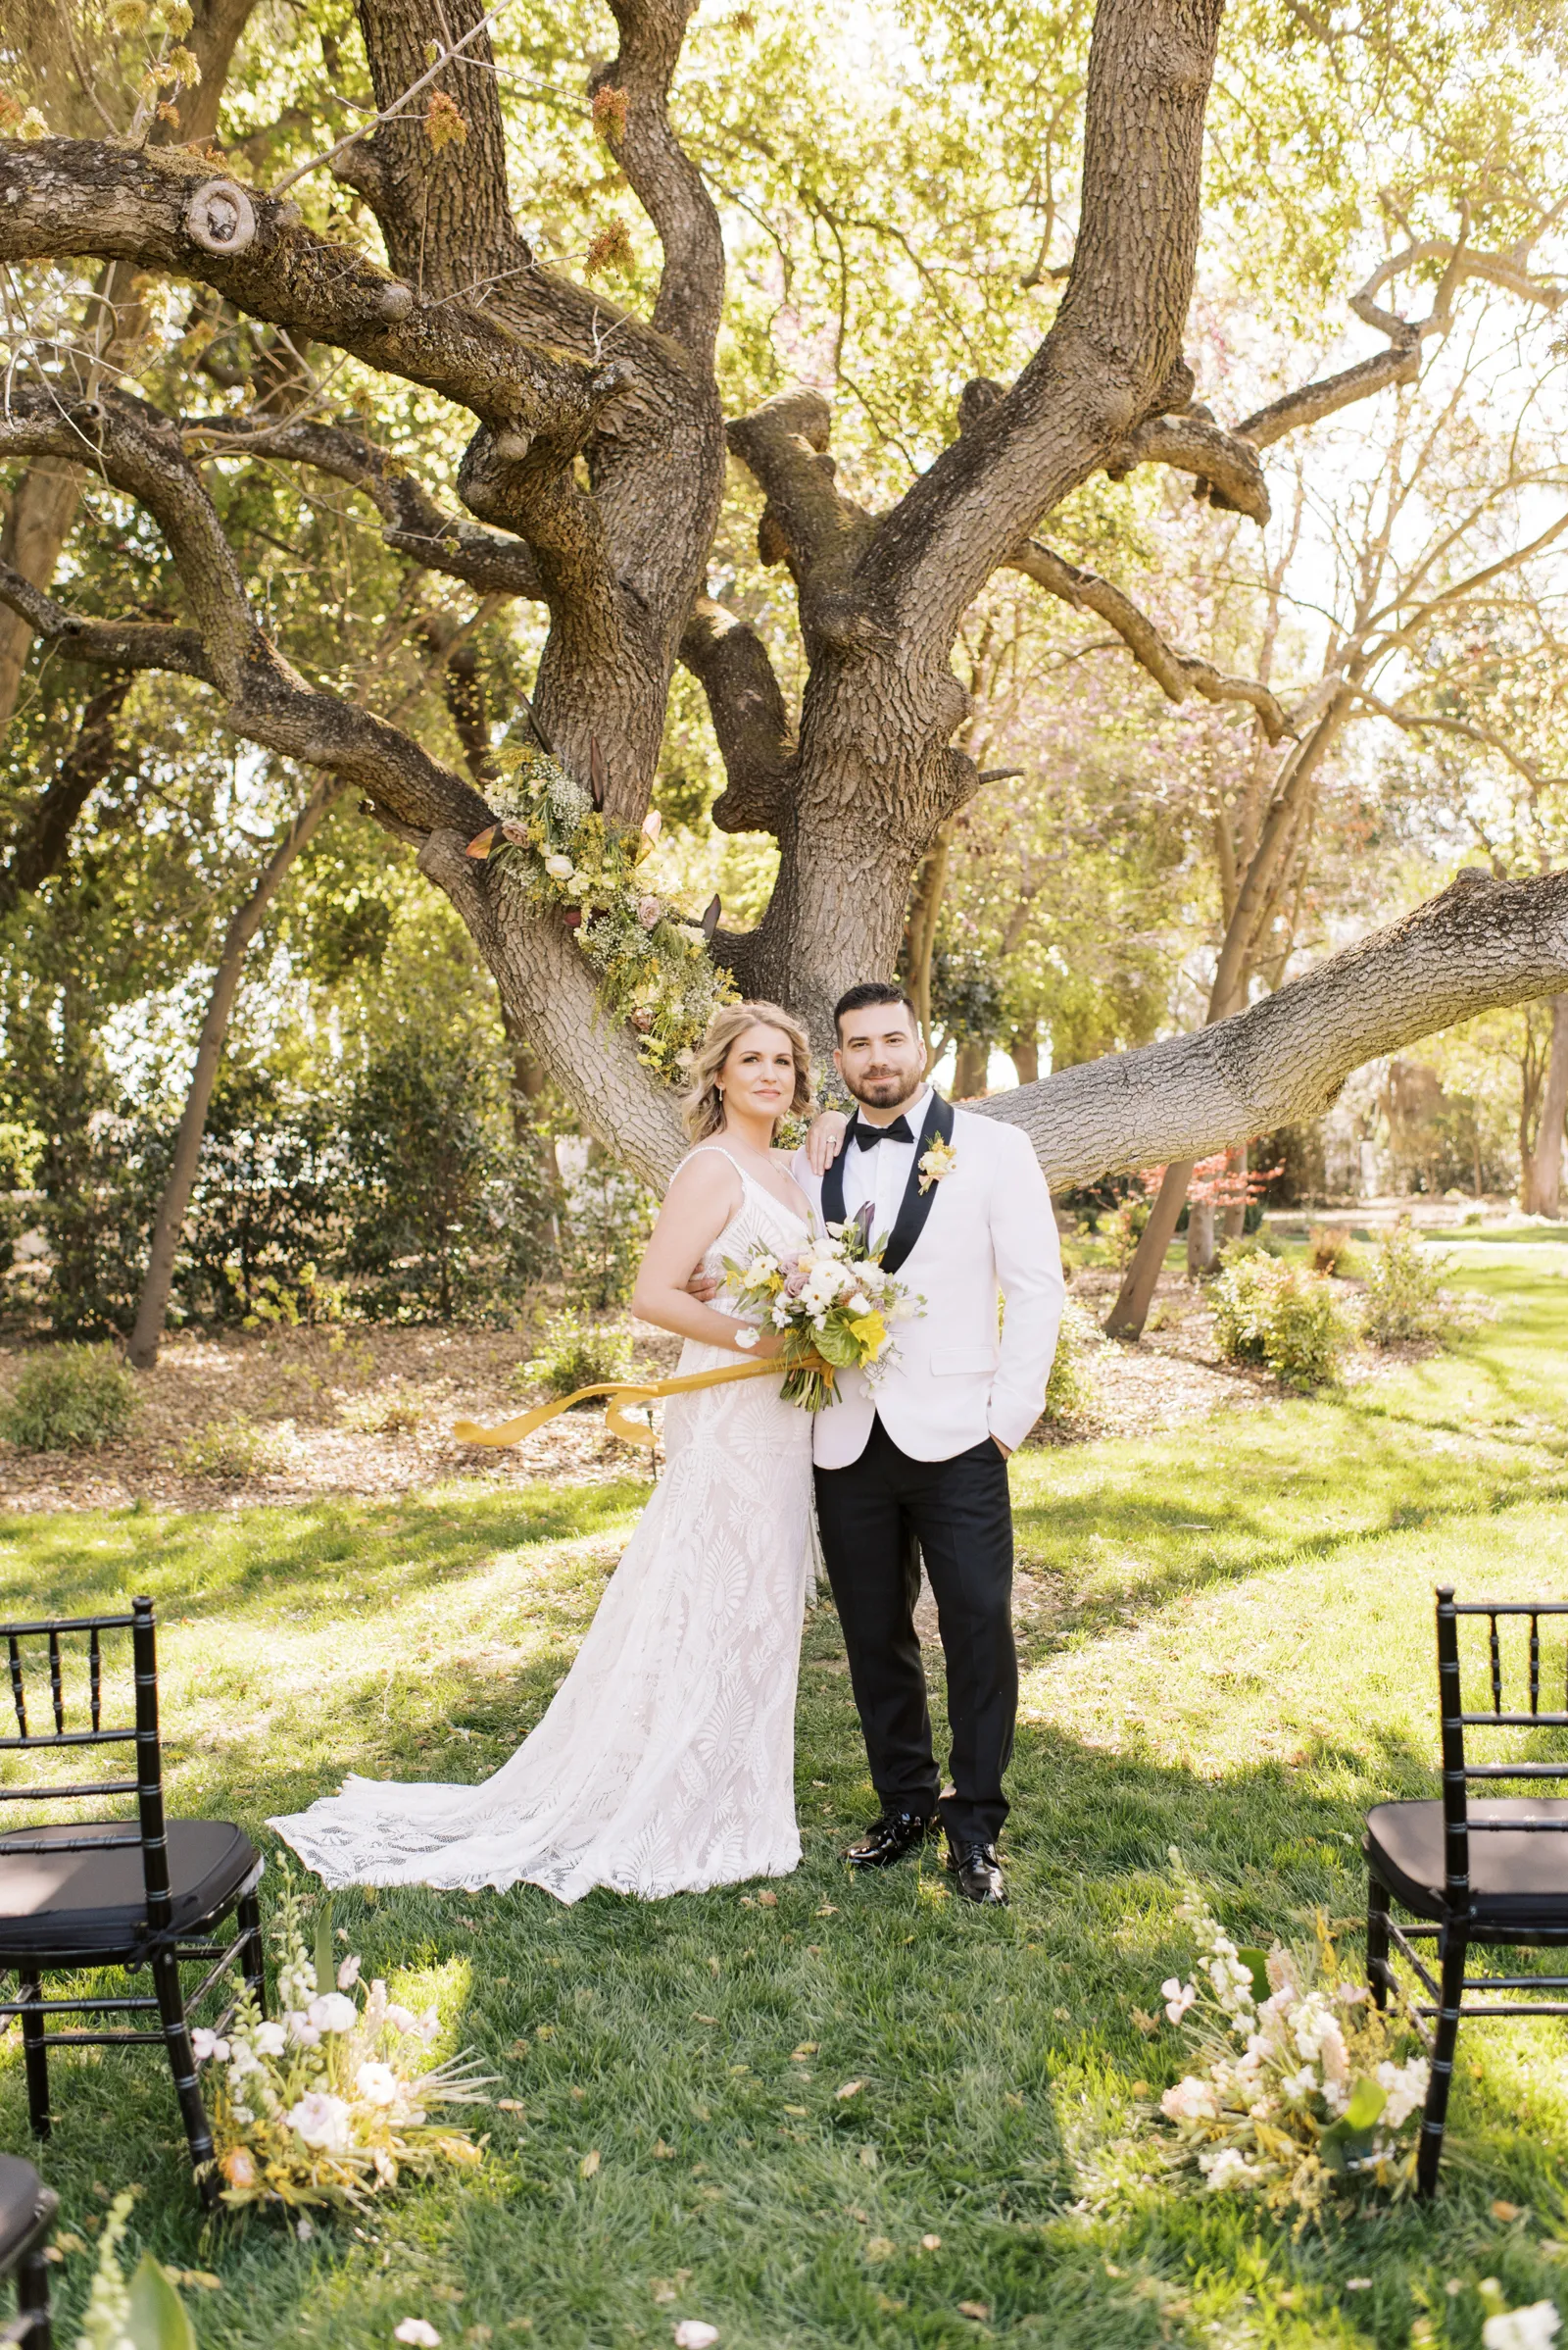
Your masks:
M1460 1687L1460 1617L1486 1617L1486 1687L1491 1704L1465 1711ZM1502 1701L1505 1654L1498 1624L1528 1622L1523 1673L1528 1708ZM1549 1950L1568 1943L1568 1800L1561 1795L1476 1795L1469 1786L1568 1779L1568 1762L1469 1762L1467 1730L1568 1730L1568 1711L1542 1706L1542 1619L1568 1617L1568 1600L1455 1600L1437 1589L1437 1685L1444 1741L1444 1793L1432 1802L1380 1802L1366 1814L1366 1981L1378 2007L1399 1990L1390 1943L1408 1960L1422 2000L1408 2014L1432 2056L1432 2084L1420 2131L1418 2188L1430 2195L1444 2155L1453 2049L1460 2021L1488 2016L1568 2016L1568 1974L1467 1974L1469 1950ZM1512 1659L1509 1659L1512 1661ZM1563 1701L1568 1708L1568 1668ZM1394 1904L1422 1920L1401 1925ZM1437 1974L1418 1943L1430 1953ZM1528 2000L1493 1993L1528 1990ZM1481 2002L1467 1993L1479 1993Z

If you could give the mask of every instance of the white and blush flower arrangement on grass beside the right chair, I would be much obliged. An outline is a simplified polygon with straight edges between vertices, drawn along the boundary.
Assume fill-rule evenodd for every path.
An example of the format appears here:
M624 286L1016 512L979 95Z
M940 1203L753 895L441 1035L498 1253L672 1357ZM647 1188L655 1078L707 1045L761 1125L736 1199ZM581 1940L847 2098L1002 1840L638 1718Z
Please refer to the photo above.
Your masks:
M1293 2207L1298 2230L1336 2188L1408 2195L1430 2080L1408 2023L1340 1976L1322 1922L1314 1950L1237 1948L1174 1845L1171 1868L1199 1950L1185 1983L1162 1983L1199 2059L1160 2099L1181 2160L1211 2193Z

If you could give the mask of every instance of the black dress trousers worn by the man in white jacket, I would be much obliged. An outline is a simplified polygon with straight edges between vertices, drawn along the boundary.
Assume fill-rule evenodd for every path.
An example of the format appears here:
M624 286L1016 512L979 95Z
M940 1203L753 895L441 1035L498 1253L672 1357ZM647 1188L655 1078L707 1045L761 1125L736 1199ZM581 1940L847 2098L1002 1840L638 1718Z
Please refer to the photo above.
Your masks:
M871 1784L890 1812L934 1812L939 1777L915 1636L920 1553L948 1668L955 1845L993 1845L1019 1711L1007 1462L991 1438L946 1462L899 1452L880 1419L847 1469L817 1469L817 1520L850 1657Z

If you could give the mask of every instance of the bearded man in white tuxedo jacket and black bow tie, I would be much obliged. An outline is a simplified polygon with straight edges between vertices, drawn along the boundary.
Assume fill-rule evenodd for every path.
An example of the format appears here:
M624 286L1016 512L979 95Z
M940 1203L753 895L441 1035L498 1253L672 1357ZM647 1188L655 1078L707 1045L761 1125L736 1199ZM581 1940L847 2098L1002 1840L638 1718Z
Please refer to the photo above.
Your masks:
M826 1175L812 1177L805 1154L793 1173L829 1224L871 1201L883 1267L925 1300L897 1325L876 1389L840 1372L838 1403L815 1426L822 1551L883 1805L845 1859L887 1868L941 1824L958 1892L1002 1904L995 1845L1019 1706L1007 1455L1040 1417L1056 1351L1052 1194L1016 1126L927 1086L901 987L852 987L836 1032L857 1107ZM939 1793L913 1622L920 1556L948 1671L951 1793Z

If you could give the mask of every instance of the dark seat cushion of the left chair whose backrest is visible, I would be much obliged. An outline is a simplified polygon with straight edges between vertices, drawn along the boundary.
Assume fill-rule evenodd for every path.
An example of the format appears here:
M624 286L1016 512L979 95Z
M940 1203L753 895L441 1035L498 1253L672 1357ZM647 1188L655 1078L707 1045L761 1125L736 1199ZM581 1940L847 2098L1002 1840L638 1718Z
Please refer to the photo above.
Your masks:
M122 1958L148 1939L141 1845L108 1852L7 1852L124 1835L124 1821L16 1828L0 1835L0 1965L54 1955ZM169 1821L174 1932L195 1934L232 1904L256 1866L249 1835L225 1819Z

